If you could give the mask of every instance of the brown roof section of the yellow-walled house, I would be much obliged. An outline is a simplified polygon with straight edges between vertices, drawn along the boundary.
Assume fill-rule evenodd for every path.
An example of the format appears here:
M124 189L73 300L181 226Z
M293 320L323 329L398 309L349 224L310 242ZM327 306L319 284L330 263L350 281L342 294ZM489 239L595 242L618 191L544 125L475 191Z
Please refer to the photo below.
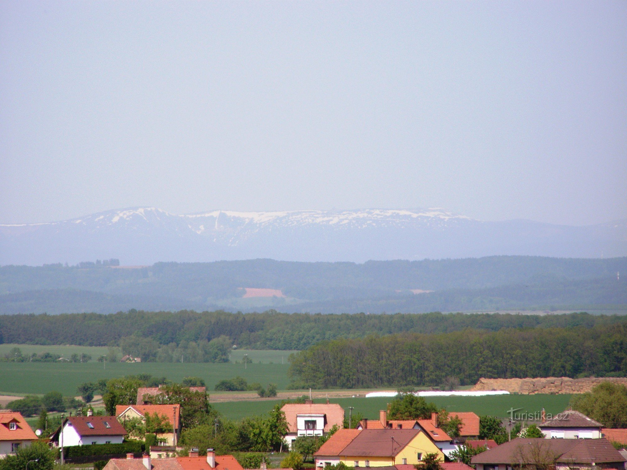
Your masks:
M396 456L419 432L419 429L363 429L340 455Z

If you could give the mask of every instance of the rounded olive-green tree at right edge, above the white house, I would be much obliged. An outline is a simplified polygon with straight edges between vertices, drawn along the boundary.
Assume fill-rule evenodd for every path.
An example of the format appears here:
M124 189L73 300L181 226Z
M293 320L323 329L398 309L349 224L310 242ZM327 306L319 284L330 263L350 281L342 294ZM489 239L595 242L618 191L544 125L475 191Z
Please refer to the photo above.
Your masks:
M627 427L627 387L601 382L591 392L572 395L571 407L606 427Z

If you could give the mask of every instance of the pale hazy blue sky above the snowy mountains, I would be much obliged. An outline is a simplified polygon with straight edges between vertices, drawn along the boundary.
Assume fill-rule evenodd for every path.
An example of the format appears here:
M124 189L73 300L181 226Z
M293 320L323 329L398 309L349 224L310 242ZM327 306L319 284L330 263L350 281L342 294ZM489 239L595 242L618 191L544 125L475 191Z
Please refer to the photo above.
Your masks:
M0 223L627 217L627 2L0 3Z

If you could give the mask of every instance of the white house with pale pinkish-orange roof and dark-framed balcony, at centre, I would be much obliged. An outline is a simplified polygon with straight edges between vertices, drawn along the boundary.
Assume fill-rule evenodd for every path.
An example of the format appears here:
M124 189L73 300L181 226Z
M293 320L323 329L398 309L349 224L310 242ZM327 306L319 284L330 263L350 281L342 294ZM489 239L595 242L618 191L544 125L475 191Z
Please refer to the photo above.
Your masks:
M283 405L288 432L285 444L292 448L292 442L300 436L324 436L333 426L342 427L344 424L344 408L337 403L314 403L305 400L305 403L288 403Z

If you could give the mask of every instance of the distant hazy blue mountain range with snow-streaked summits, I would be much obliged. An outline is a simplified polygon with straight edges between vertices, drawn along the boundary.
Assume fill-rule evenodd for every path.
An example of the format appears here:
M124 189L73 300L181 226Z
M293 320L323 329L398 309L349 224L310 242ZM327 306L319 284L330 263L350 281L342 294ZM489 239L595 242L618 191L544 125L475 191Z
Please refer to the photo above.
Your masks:
M211 211L135 207L60 222L0 224L0 264L273 258L288 261L627 255L627 221L572 227L485 222L443 209Z

